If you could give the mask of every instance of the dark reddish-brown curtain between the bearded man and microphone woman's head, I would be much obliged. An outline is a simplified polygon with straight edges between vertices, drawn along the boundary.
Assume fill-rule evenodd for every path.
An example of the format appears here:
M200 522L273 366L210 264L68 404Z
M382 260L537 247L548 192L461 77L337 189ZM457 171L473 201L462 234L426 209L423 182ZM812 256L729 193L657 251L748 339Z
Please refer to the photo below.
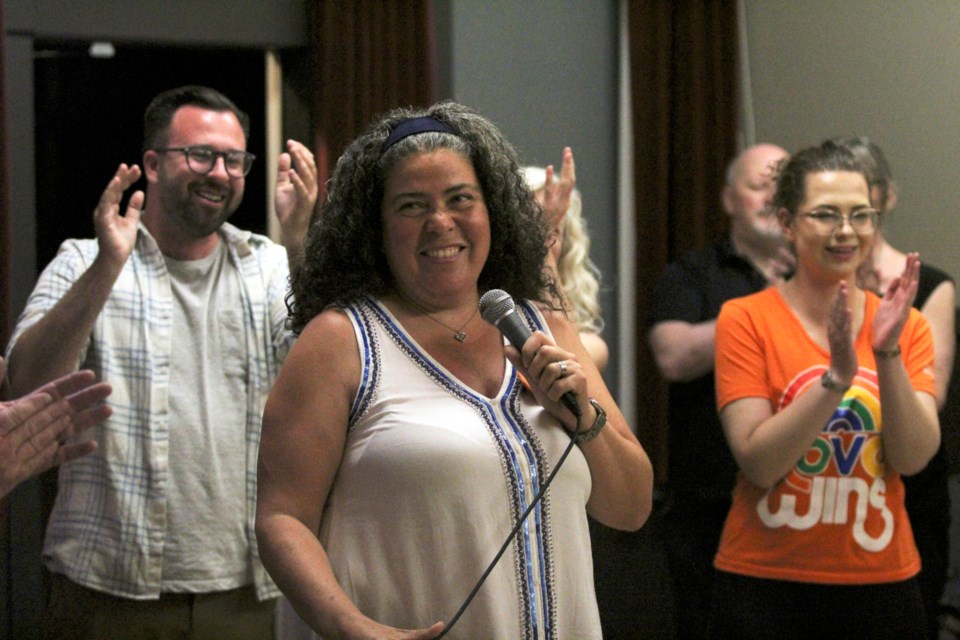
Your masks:
M430 0L309 3L321 185L374 116L394 107L434 102L432 20Z

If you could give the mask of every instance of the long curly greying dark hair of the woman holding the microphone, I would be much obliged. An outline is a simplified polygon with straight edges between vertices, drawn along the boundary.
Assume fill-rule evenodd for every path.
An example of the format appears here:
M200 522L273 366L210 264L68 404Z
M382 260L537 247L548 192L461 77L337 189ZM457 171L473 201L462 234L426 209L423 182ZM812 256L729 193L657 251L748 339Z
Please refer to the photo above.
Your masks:
M381 153L394 127L421 116L443 122L452 133L417 133ZM438 149L468 158L483 192L490 218L490 255L480 273L479 289L503 289L515 298L562 308L557 285L544 269L546 221L524 182L516 151L480 114L442 102L427 109L390 111L337 161L326 202L307 233L303 260L291 276L287 308L295 334L330 305L347 305L363 296L381 297L393 290L394 277L382 248L384 182L400 161Z

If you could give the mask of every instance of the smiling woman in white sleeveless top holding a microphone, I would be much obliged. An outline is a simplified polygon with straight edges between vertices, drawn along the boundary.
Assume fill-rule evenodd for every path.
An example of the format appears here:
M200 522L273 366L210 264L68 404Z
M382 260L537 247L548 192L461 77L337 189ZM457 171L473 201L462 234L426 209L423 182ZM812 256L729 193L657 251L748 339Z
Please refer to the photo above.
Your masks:
M392 111L338 161L293 276L257 504L265 566L323 637L601 637L587 514L639 528L652 470L545 240L513 148L461 105ZM532 330L521 350L477 315L491 289Z

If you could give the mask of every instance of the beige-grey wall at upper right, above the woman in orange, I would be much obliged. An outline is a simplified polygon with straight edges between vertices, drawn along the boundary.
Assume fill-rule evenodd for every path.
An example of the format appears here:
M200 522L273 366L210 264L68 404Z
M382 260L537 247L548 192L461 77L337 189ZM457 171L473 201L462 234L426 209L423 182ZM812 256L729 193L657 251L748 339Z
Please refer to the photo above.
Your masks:
M898 249L960 276L960 2L743 0L757 140L868 135L893 167Z

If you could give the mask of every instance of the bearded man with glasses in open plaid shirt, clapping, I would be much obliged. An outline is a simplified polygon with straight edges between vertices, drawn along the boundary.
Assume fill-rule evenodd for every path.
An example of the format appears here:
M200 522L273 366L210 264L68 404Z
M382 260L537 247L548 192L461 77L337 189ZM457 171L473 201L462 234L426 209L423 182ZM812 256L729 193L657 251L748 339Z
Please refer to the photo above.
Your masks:
M289 348L288 258L318 189L313 156L289 141L276 188L286 250L229 224L254 161L249 126L213 89L154 98L145 192L120 214L141 176L121 164L96 239L63 244L14 330L15 391L78 367L113 387L97 451L60 474L47 638L271 638L279 592L254 535L261 408Z

